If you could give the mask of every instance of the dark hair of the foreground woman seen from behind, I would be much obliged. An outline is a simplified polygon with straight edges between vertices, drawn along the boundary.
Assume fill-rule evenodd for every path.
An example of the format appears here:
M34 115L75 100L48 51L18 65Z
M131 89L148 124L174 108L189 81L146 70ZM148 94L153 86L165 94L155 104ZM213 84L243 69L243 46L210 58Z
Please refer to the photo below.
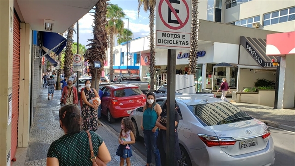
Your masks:
M67 129L67 134L79 133L81 131L81 114L76 104L62 106L59 109L59 120Z

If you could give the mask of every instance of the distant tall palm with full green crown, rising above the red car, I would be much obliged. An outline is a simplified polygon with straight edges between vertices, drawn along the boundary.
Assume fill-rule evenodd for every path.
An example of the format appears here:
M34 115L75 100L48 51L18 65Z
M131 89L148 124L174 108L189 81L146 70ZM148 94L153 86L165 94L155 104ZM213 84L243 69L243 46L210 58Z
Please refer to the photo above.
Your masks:
M107 7L107 19L108 23L106 25L106 30L110 37L110 79L113 79L113 47L114 47L114 35L122 33L124 30L124 22L122 18L125 17L125 13L121 7L117 4L111 4ZM128 50L127 50L128 53Z

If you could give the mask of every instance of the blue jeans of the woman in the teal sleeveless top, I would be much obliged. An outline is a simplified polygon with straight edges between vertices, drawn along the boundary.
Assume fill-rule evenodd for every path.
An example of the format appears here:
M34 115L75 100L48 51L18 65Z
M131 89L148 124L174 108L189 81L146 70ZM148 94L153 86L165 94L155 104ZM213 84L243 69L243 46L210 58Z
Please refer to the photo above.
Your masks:
M156 166L161 166L160 152L156 145L159 131L157 130L153 133L151 130L144 129L143 132L147 151L147 163L151 163L151 153L153 152L155 155Z

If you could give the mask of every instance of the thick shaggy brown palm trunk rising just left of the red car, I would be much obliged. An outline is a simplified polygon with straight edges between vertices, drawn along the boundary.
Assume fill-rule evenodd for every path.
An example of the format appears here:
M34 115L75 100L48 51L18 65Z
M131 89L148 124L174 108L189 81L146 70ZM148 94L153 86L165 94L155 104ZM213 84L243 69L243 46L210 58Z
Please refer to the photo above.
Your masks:
M104 67L104 61L106 60L106 50L108 48L108 40L107 40L107 6L109 0L99 0L95 5L95 12L93 12L94 16L94 26L93 26L93 39L89 39L87 41L91 41L91 43L87 44L89 48L86 50L84 54L85 60L89 60L90 71L92 74L92 85L94 88L94 81L96 81L97 85L99 85L99 80L101 73ZM99 61L101 68L97 69L97 79L95 80L95 68L94 61Z

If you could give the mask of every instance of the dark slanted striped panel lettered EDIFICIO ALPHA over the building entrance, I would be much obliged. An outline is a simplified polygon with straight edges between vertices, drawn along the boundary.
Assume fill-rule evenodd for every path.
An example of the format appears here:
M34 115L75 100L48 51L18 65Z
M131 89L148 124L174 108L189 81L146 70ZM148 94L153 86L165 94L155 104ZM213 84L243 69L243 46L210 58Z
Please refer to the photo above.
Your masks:
M252 37L240 37L240 44L246 49L249 55L263 68L276 67L271 60L277 61L274 56L266 55L266 40Z

